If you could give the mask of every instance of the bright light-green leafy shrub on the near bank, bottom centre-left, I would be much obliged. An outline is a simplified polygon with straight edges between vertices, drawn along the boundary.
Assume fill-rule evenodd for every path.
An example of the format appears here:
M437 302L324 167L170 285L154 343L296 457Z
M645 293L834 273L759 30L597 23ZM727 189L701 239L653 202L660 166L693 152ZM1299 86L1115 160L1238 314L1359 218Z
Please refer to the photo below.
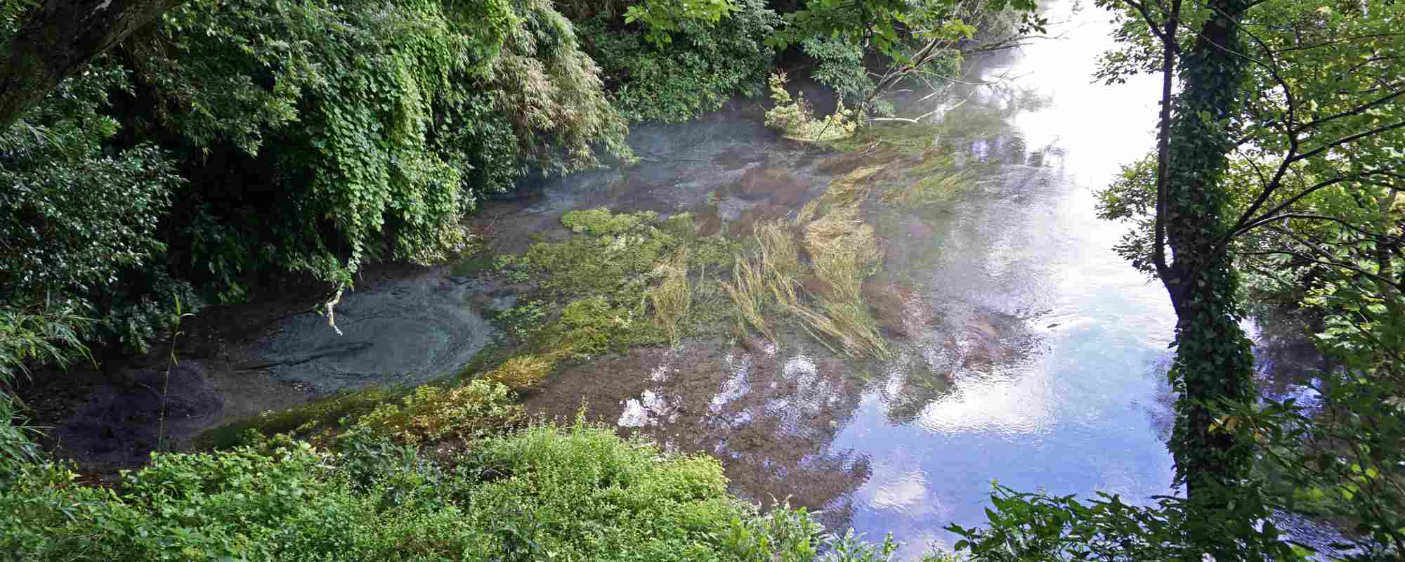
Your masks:
M728 559L712 532L750 516L726 496L717 461L660 457L606 429L534 427L481 443L478 462L511 476L471 492L486 517L473 524L513 514L528 541L562 559Z

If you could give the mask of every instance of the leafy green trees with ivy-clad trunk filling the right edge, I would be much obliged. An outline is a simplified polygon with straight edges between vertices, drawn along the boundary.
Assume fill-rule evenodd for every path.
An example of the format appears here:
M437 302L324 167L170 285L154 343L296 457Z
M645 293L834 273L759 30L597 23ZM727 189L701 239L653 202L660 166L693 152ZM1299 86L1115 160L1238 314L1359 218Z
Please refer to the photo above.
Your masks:
M1102 76L1159 70L1166 46L1184 84L1166 125L1169 159L1128 166L1100 205L1137 223L1117 249L1166 282L1182 320L1172 450L1191 497L1198 481L1210 500L1189 506L1175 532L1220 558L1257 559L1277 540L1257 534L1272 528L1269 513L1298 511L1347 521L1354 558L1399 556L1405 66L1385 53L1405 48L1405 13L1214 4L1243 11L1225 22L1186 4L1182 24L1204 31L1175 38L1166 6L1113 4L1125 10L1125 48L1104 58ZM1319 405L1252 392L1236 326L1245 302L1298 309L1315 325L1339 365L1311 382Z

